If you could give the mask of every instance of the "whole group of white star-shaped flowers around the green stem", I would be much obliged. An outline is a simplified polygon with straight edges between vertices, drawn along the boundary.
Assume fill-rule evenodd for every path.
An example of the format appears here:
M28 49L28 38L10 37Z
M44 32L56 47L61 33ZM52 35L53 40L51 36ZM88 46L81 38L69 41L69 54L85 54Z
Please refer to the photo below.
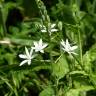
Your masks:
M50 34L49 35L51 35L51 32L58 31L57 29L54 28L55 25L56 24L51 24L51 26L49 28L50 29ZM41 32L47 32L47 28L44 25L41 26L41 27L42 27ZM44 48L46 48L48 46L47 43L43 43L42 39L40 39L39 41L34 41L33 44L34 44L34 46L31 47L30 51L27 49L27 47L25 47L25 54L20 54L19 55L20 58L24 59L20 63L20 66L22 66L25 63L28 63L28 65L30 65L31 60L36 57L35 53L36 52L44 53ZM71 54L77 55L77 53L75 53L74 51L75 51L75 49L78 48L78 46L71 46L68 39L66 39L66 41L61 40L60 45L61 45L61 49L64 52L67 52L69 55L71 55Z

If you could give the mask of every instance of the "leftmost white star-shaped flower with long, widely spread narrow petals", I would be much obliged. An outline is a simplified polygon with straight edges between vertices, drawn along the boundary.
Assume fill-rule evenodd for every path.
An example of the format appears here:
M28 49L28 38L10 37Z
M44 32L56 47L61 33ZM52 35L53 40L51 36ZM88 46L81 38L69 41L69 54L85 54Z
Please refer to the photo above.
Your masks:
M35 56L36 55L33 55L33 49L31 49L30 52L29 52L28 49L25 47L25 54L20 54L19 55L20 58L25 59L20 63L20 66L22 66L25 63L28 63L28 65L30 65L31 64L31 59L33 59Z

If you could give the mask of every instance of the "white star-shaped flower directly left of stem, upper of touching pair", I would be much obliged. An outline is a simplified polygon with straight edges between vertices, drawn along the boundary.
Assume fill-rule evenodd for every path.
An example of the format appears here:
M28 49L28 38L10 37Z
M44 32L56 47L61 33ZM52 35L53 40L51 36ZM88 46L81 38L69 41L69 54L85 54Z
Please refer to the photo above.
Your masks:
M48 44L46 43L43 43L42 42L42 39L40 39L39 41L35 41L34 42L34 46L35 47L32 47L32 49L35 49L35 52L41 52L41 53L44 53L44 48L47 46Z

